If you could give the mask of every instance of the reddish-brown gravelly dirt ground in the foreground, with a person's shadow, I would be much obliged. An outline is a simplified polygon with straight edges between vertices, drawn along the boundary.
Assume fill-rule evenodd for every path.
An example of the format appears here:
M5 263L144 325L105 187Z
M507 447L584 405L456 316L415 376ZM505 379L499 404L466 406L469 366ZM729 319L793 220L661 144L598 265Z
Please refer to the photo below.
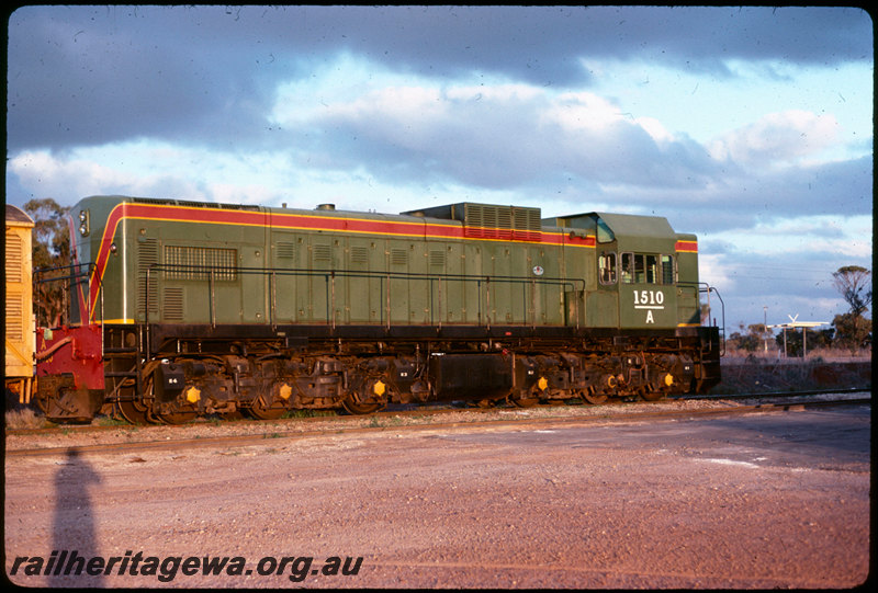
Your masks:
M862 583L868 409L739 418L8 456L7 574L125 588ZM74 551L116 560L46 575ZM205 557L227 565L204 574Z

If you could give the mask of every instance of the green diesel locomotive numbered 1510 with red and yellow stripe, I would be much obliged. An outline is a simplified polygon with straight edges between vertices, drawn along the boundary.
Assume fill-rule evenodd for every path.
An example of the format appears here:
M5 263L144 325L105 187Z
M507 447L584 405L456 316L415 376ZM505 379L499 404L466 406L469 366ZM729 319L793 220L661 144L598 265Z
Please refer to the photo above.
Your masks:
M661 217L92 196L70 237L66 318L36 330L56 422L655 400L720 378L697 239Z

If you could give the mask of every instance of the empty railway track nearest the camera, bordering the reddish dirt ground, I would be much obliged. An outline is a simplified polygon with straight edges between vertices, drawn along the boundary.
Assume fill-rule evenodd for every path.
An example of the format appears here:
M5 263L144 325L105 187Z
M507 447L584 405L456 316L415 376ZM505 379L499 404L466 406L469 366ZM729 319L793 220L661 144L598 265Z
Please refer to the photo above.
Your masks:
M832 396L818 399L817 396ZM754 400L754 401L751 401ZM76 453L188 451L204 446L251 446L268 440L305 438L380 431L417 432L454 429L502 429L585 425L596 422L673 420L719 414L790 411L806 407L870 403L870 390L822 390L746 396L676 398L657 402L604 406L517 408L429 408L387 410L370 417L309 417L274 421L196 423L188 426L83 426L7 431L7 457L65 456ZM457 415L454 415L457 414ZM196 434L192 434L196 433ZM102 436L103 435L103 440ZM57 436L60 435L60 438ZM33 442L46 438L38 446ZM53 438L55 436L55 438ZM15 438L18 437L18 438ZM86 443L83 441L101 441Z

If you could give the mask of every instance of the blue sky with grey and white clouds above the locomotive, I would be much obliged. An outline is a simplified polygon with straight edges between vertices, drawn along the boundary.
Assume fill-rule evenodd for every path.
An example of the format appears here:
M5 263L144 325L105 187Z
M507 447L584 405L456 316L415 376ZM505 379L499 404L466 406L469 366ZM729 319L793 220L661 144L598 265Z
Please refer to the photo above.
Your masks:
M871 270L869 15L844 8L25 7L7 199L660 215L727 328Z

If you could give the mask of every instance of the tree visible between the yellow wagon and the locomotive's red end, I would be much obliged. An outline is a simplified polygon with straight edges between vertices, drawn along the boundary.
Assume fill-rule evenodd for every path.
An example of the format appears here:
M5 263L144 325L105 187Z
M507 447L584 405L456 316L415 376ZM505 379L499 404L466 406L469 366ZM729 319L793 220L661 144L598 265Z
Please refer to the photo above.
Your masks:
M50 197L31 199L24 210L34 219L34 269L70 265L70 227L67 223L69 206L60 206ZM41 274L34 280L69 275L67 270ZM63 282L40 283L34 287L34 308L38 326L57 326L64 315Z

